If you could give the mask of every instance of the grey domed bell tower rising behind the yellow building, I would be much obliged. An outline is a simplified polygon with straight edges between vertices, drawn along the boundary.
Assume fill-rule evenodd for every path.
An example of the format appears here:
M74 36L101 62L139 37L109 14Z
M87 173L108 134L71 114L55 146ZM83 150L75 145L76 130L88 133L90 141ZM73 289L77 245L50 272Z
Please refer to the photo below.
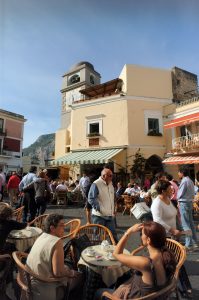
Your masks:
M95 71L93 65L87 61L81 61L72 66L70 70L63 75L61 88L62 111L61 128L68 128L71 123L70 105L83 99L80 90L89 86L100 84L100 74Z

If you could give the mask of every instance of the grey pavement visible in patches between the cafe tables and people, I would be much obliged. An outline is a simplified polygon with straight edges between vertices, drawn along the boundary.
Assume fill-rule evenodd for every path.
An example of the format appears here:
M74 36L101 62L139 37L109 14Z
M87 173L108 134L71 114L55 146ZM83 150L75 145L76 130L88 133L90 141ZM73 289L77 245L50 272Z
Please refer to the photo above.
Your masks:
M81 207L49 206L46 212L47 213L56 212L56 213L63 214L66 221L69 221L72 218L79 218L81 220L82 225L86 223L85 211ZM120 238L123 235L123 233L127 230L127 228L129 228L136 222L137 220L134 218L134 216L130 217L128 214L122 215L121 213L118 213L116 217L118 237ZM197 224L198 223L199 222L197 222ZM199 233L197 234L199 238ZM140 244L139 234L134 234L131 236L131 239L129 239L127 243L127 249L132 250L134 248L137 248L139 244ZM189 279L191 281L192 288L193 288L193 295L191 298L194 300L198 300L199 299L199 251L195 251L187 255L185 267L188 272ZM188 299L188 298L183 298L183 299Z

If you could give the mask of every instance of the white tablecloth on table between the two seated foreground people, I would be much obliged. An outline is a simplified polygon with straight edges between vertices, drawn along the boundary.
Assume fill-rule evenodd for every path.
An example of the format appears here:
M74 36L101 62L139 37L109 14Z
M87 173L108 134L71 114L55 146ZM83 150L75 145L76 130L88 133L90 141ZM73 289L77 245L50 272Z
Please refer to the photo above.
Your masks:
M86 248L82 252L78 264L86 265L94 272L100 274L107 287L110 287L120 276L130 270L128 267L123 266L118 260L107 259L107 252L102 249L101 245L91 247L95 251L95 256L93 257L86 255L89 248L90 247ZM124 253L129 252L128 250L124 250ZM98 260L96 256L102 256L102 259Z

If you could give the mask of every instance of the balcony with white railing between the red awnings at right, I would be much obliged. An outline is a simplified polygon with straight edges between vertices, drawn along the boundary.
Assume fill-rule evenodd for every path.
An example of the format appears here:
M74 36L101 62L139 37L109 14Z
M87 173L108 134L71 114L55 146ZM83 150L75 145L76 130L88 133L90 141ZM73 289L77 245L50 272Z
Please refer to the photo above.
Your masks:
M172 151L177 153L199 151L199 133L172 139Z

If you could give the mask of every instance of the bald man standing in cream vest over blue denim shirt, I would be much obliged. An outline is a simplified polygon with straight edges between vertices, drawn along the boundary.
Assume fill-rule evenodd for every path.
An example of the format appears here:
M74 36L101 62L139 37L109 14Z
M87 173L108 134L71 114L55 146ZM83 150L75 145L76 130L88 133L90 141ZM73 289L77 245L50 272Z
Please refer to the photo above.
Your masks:
M113 173L110 169L104 168L102 170L101 176L90 187L88 202L92 206L93 224L100 224L109 228L117 242L117 233L115 230L115 195L112 177Z

